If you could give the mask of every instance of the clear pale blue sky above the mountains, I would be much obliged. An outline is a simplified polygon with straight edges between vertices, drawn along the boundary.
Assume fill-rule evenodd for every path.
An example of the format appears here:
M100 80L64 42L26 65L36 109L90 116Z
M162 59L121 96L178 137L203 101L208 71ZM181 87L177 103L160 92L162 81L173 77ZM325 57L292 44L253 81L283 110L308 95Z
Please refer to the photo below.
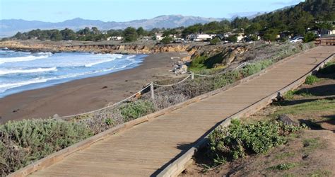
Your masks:
M0 0L0 19L131 21L161 15L231 18L274 11L302 0Z

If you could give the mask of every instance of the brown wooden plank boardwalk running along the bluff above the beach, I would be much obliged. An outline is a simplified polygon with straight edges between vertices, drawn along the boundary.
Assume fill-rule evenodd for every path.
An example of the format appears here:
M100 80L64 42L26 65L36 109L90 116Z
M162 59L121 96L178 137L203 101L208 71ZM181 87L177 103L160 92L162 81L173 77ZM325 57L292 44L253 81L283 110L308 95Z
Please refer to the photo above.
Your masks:
M31 176L155 176L218 122L282 89L335 52L317 47L264 74L110 135Z

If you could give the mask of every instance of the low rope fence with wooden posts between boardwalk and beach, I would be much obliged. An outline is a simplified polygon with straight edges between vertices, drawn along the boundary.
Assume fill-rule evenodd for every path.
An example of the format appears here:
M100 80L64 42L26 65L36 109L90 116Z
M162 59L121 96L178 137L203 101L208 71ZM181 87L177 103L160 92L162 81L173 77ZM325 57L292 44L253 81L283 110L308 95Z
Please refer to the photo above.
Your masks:
M240 69L241 67L245 67L245 66L247 66L247 64L249 64L249 63L244 62L244 63L238 65L237 67L235 67L234 69ZM64 118L74 118L74 117L76 117L76 116L80 116L80 115L88 115L88 114L91 114L91 113L96 113L96 112L98 112L98 111L100 111L100 110L105 110L105 109L107 109L107 108L112 108L112 107L114 107L114 106L116 106L116 105L119 105L119 104L121 104L121 103L124 103L125 101L128 101L128 100L131 99L131 98L134 98L135 96L141 94L142 91L145 91L145 90L148 89L149 87L150 87L150 89L151 89L151 98L155 98L155 95L154 95L154 88L153 88L153 86L161 86L161 87L175 86L175 85L177 85L177 84L181 84L181 83L184 82L184 81L187 81L187 79L189 79L189 77L191 77L192 80L194 79L194 76L214 77L214 76L218 76L218 75L224 74L224 73L226 73L226 72L229 72L229 71L231 71L231 70L233 70L233 69L230 69L230 70L228 70L228 71L221 72L221 73L218 73L218 74L214 74L214 75L195 74L195 73L191 72L191 73L188 74L184 79L182 79L181 81L176 82L175 84L166 84L166 85L163 85L163 84L155 84L155 83L151 82L151 83L146 84L146 86L145 86L143 89L141 89L140 91L137 91L137 92L134 93L133 95L131 95L131 96L127 97L127 98L124 98L122 101L119 101L119 102L117 102L117 103L113 103L112 105L107 105L107 106L105 106L105 107L103 107L103 108L100 108L100 109L97 109L97 110L91 110L91 111L88 111L88 112L85 112L85 113L78 113L78 114L74 114L74 115L65 115L65 116L61 116L61 117L59 117L59 118L63 118L63 119L64 119Z

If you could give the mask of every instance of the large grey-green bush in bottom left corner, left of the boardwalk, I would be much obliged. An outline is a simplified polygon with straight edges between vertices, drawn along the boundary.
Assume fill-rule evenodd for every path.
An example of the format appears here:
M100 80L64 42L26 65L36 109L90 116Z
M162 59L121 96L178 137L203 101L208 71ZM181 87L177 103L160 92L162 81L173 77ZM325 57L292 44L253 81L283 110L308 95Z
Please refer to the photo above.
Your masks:
M20 120L0 125L0 173L6 175L71 146L92 132L82 123Z

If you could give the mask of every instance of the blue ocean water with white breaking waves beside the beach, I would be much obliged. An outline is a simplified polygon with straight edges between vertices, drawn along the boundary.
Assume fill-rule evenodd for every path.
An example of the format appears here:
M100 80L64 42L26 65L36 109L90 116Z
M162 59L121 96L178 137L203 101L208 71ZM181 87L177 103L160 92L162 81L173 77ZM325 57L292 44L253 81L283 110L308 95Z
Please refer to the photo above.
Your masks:
M0 98L139 66L146 55L0 49Z

